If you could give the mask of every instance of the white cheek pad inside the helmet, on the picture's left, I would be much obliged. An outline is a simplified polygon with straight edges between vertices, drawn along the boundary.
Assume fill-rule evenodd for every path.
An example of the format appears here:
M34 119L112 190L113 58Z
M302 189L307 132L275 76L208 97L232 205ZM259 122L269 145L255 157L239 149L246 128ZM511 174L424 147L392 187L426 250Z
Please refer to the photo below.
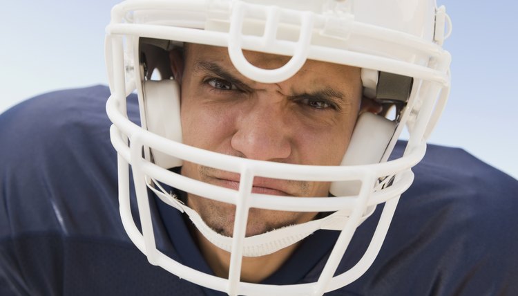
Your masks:
M147 130L169 140L182 142L180 84L176 80L145 80L142 86ZM179 158L155 149L150 151L151 160L160 167L169 169L182 165Z

